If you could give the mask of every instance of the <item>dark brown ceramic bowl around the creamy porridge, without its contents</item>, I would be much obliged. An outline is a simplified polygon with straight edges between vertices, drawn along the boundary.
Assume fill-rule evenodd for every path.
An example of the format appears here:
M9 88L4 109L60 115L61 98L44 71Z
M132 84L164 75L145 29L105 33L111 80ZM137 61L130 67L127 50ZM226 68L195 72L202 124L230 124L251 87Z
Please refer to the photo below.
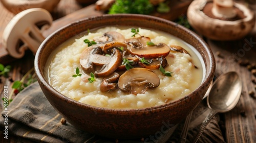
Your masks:
M201 85L187 96L165 105L143 109L99 108L74 101L56 91L46 80L46 62L54 49L88 29L104 26L131 26L155 29L177 36L193 45L206 68ZM137 138L161 132L185 118L202 100L215 74L215 59L208 45L194 32L158 17L117 14L91 17L61 28L46 38L35 57L39 85L51 105L73 126L100 136Z

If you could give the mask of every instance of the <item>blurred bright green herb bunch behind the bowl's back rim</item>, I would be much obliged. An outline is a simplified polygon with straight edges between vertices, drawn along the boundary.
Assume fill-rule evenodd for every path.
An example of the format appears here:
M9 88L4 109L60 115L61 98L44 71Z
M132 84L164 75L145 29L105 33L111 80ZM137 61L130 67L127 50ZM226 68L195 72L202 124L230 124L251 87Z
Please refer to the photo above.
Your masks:
M116 0L109 10L109 14L136 13L150 14L154 6L148 0Z

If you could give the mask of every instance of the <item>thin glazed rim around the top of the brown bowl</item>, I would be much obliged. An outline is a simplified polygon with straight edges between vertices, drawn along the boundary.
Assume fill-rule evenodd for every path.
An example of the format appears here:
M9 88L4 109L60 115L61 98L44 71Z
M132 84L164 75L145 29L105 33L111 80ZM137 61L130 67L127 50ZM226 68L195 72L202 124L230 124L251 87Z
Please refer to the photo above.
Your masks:
M194 91L192 91L189 94L187 94L186 96L184 96L184 97L182 97L180 99L177 99L177 100L175 100L173 102L170 102L170 103L167 103L167 104L164 104L164 105L153 106L153 107L146 107L146 108L139 108L139 109L112 109L112 108L92 106L92 105L84 104L84 103L75 101L73 99L70 99L70 98L66 97L65 95L61 94L60 92L58 92L56 89L54 89L48 83L48 81L44 78L44 72L42 72L40 70L41 68L39 68L41 66L40 65L41 51L44 51L46 49L46 47L44 45L46 43L48 43L48 41L51 39L51 37L56 35L56 34L58 34L58 33L60 33L62 30L66 30L69 27L72 27L74 25L79 25L80 22L84 22L84 21L92 20L92 19L97 19L97 18L101 18L101 17L108 18L108 17L118 17L118 16L125 16L126 18L134 17L135 16L137 18L141 17L141 18L146 18L146 19L151 19L151 20L154 19L154 20L158 20L158 21L163 21L163 22L169 23L172 26L176 26L177 28L181 29L182 31L185 31L187 34L189 34L189 35L193 36L194 38L196 38L198 40L198 42L202 44L203 47L206 47L205 48L205 51L206 51L205 54L208 55L209 63L210 63L209 68L208 68L209 70L208 70L208 72L205 73L205 76L203 77L200 86L197 87ZM78 33L78 34L80 34L80 33ZM75 36L75 35L73 35L73 36ZM184 40L184 39L182 39L182 40ZM212 78L214 77L214 74L215 74L215 68L216 68L216 63L215 63L214 54L210 50L210 47L208 46L208 44L198 34L196 34L195 32L193 32L193 31L191 31L191 30L189 30L189 29L187 29L187 28L185 28L185 27L183 27L183 26L181 26L178 23L175 23L173 21L170 21L170 20L167 20L167 19L163 19L163 18L159 18L159 17L156 17L156 16L142 15L142 14L114 14L114 15L104 14L104 15L100 15L100 16L91 16L91 17L87 17L87 18L83 18L83 19L71 22L68 25L63 26L60 29L54 31L52 34L50 34L40 44L40 46L39 46L39 48L38 48L38 50L36 52L35 60L34 60L34 70L35 70L35 74L36 74L36 77L38 79L38 82L40 82L42 85L44 85L44 88L46 88L47 90L53 92L54 95L58 99L65 100L65 101L69 102L72 105L77 105L77 106L80 106L82 108L91 109L91 110L94 110L96 112L103 111L105 113L113 113L113 111L114 111L115 113L120 113L120 114L129 114L131 111L133 111L135 113L138 113L138 114L145 113L145 112L157 112L158 110L163 110L163 109L168 108L169 106L172 106L174 104L179 104L183 100L185 100L188 96L191 96L192 94L195 94L197 91L199 91L200 88L207 87L206 85L210 85L210 83L212 81ZM201 89L201 90L205 90L206 91L207 89Z

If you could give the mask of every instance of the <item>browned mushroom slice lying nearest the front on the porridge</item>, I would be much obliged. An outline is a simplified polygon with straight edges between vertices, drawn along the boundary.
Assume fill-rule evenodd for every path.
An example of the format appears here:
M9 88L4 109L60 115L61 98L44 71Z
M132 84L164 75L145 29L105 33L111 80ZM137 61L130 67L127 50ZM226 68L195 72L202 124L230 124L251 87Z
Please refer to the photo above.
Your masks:
M140 67L125 71L118 80L118 87L121 90L135 95L156 88L159 84L160 79L154 71Z

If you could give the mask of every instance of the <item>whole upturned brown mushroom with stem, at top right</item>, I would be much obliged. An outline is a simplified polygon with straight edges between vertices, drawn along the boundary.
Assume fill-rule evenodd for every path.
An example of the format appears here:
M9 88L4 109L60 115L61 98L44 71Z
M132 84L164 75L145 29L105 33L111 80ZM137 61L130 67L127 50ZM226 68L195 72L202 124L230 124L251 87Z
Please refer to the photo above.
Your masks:
M255 25L254 13L232 0L195 0L187 10L191 27L213 40L236 40Z

